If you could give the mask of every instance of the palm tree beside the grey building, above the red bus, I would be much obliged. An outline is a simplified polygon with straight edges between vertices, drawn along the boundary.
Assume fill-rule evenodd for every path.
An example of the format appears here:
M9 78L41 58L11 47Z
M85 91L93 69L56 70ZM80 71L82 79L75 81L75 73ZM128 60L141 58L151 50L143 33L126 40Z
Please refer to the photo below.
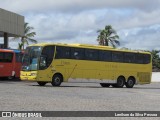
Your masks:
M14 37L14 39L21 38L21 43L18 44L18 48L19 49L24 49L24 45L25 44L28 45L29 42L37 43L37 40L31 38L31 37L34 37L36 35L36 32L32 32L32 30L34 28L29 26L28 24L29 23L25 23L24 24L24 36L22 36L22 37L20 37L20 36Z

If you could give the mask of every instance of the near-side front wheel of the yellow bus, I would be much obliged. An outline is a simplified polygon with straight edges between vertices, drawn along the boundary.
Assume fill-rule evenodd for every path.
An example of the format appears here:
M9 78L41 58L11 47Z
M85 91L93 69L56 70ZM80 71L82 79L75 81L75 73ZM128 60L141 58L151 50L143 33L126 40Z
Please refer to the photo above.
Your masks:
M62 83L62 76L59 74L55 74L52 78L52 86L60 86Z

